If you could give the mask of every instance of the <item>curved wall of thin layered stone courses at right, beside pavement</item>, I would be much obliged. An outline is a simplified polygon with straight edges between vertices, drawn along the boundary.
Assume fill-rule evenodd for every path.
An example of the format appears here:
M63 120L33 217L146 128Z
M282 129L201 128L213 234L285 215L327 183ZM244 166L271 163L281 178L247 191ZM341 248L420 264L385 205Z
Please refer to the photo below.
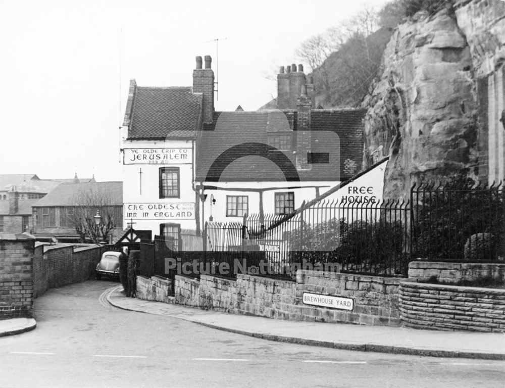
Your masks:
M505 332L505 289L401 282L399 293L405 326Z

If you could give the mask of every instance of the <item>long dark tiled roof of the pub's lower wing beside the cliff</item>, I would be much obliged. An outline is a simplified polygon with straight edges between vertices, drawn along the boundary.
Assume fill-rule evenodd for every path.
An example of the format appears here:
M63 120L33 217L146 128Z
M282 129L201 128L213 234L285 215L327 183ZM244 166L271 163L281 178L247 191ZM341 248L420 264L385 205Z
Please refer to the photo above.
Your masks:
M304 181L341 181L362 168L363 124L366 110L311 111L310 151L328 153L329 163L312 164L310 170L297 169ZM280 166L296 166L298 116L296 111L216 112L213 123L198 133L196 179L200 181L284 181ZM285 132L292 136L292 148L269 150L269 136ZM301 137L299 137L301 139ZM301 141L301 140L300 140ZM241 146L239 146L241 144ZM228 151L227 151L228 150ZM306 150L306 149L305 149ZM249 156L241 157L244 154ZM269 160L270 159L270 160ZM275 159L278 164L272 161ZM231 160L234 160L230 163ZM289 162L290 163L289 163ZM217 167L212 170L211 166ZM290 165L290 166L289 166ZM340 166L340 168L338 168ZM219 175L219 171L222 174Z

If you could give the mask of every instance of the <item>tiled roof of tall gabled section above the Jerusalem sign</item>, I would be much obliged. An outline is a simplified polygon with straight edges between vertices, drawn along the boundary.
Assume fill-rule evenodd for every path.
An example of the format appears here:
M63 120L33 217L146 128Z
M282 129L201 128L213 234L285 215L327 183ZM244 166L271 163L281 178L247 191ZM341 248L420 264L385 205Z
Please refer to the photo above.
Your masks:
M124 125L128 138L192 138L200 120L202 94L191 87L134 87Z

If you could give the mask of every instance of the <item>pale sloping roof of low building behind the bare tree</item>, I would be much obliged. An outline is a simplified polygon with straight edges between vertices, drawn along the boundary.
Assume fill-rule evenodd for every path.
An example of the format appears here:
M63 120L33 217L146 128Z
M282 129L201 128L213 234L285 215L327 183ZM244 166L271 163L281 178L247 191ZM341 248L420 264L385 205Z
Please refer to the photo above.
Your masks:
M33 206L82 206L83 193L107 199L103 206L123 205L123 182L62 183Z

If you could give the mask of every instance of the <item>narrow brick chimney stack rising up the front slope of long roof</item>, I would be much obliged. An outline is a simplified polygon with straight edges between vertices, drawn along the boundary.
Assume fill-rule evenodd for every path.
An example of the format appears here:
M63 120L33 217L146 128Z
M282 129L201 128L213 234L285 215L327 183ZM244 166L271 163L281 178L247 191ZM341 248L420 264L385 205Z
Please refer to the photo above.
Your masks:
M312 101L307 94L307 85L300 86L300 95L296 100L297 126L296 126L296 168L298 170L311 170L308 162L312 150L311 139L311 107Z

